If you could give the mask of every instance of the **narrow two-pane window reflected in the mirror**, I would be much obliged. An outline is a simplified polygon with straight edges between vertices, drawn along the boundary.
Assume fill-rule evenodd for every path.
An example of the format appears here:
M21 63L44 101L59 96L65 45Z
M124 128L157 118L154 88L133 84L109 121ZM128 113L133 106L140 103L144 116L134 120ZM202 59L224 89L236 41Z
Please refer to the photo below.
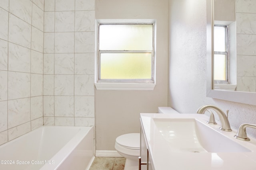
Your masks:
M214 25L214 81L228 82L228 27Z

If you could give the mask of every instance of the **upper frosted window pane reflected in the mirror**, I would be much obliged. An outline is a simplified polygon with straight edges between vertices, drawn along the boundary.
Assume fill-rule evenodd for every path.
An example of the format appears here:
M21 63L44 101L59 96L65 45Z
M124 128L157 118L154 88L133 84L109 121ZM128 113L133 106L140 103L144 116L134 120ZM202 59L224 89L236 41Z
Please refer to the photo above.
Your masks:
M214 26L214 51L226 52L226 27Z

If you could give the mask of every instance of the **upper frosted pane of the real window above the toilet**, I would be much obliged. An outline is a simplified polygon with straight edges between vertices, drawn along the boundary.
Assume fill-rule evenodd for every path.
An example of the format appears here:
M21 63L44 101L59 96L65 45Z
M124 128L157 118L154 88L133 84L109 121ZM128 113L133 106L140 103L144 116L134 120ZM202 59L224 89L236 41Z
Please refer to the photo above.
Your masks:
M100 25L100 50L152 50L153 25Z

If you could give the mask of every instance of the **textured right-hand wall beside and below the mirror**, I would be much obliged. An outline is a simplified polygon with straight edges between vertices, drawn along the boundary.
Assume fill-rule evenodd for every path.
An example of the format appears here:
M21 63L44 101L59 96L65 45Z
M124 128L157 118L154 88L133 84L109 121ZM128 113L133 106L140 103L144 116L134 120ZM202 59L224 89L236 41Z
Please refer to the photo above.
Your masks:
M196 113L205 104L229 110L231 127L256 123L256 106L206 97L206 1L169 0L168 106ZM256 137L255 129L246 129Z

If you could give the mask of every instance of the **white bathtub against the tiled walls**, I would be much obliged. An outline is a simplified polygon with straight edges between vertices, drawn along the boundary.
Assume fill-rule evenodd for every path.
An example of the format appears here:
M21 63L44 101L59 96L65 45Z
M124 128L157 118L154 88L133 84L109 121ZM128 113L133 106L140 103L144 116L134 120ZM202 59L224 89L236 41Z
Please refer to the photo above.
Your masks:
M0 146L0 170L88 170L93 128L42 126Z

